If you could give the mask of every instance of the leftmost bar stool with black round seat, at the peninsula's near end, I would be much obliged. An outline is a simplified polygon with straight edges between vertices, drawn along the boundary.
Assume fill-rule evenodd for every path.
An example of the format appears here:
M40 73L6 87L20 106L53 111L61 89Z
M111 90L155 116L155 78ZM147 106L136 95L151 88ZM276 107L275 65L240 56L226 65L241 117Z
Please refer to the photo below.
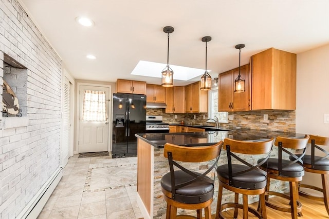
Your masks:
M177 208L196 210L197 218L202 219L202 209L205 209L205 219L211 219L210 205L214 194L214 168L223 142L220 141L211 146L184 147L173 144L165 144L163 155L168 158L170 172L161 178L161 190L167 202L166 218L177 217ZM188 170L191 163L199 163L214 160L211 167L203 172ZM175 168L175 169L174 169ZM179 215L182 216L182 215ZM195 218L185 215L184 218Z

